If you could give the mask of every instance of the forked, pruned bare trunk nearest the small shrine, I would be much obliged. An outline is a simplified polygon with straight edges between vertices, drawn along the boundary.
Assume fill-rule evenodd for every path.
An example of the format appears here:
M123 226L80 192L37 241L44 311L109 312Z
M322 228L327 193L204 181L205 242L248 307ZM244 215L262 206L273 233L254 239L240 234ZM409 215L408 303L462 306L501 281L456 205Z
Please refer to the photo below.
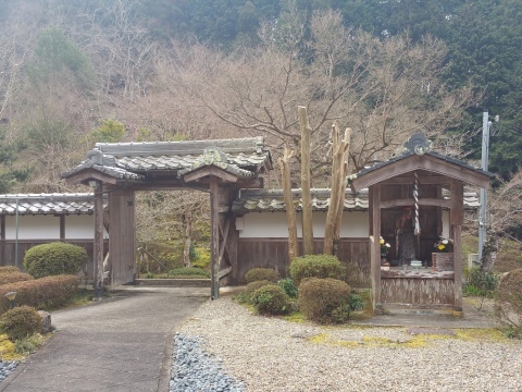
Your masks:
M339 140L339 128L337 124L332 125L332 188L330 194L330 207L326 213L326 225L324 230L325 255L334 254L334 240L339 236L340 219L345 203L346 189L346 154L349 146L349 128L345 132L345 139Z

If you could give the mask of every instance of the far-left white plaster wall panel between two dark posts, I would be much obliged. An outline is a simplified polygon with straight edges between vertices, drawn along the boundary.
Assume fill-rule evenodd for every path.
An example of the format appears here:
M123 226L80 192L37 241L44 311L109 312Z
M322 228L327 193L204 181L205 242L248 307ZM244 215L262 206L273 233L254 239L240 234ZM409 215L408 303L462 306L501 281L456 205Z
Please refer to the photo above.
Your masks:
M5 217L5 240L16 240L16 217ZM60 240L60 218L18 216L18 240Z

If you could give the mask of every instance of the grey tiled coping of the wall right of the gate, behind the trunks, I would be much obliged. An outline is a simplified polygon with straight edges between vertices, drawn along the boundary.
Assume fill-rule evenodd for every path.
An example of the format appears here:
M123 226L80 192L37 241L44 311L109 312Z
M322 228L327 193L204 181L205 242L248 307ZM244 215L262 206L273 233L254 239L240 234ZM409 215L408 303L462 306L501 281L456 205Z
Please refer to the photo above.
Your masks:
M330 206L330 189L311 189L312 209L314 211L327 211ZM294 207L297 211L302 210L301 189L291 191ZM449 199L449 193L444 195ZM464 208L475 209L481 204L474 192L464 193ZM369 207L368 189L362 189L356 196L347 191L345 194L345 211L365 211ZM281 189L241 189L234 200L232 210L237 213L285 211L283 191Z

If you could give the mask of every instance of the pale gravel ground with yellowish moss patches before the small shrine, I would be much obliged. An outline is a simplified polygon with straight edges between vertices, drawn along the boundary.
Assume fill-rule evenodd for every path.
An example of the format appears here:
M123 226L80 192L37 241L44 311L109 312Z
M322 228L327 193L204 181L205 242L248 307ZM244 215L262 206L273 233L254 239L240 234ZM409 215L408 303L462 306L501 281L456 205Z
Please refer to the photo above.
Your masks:
M248 391L522 391L522 342L410 332L295 323L229 297L207 302L178 329Z

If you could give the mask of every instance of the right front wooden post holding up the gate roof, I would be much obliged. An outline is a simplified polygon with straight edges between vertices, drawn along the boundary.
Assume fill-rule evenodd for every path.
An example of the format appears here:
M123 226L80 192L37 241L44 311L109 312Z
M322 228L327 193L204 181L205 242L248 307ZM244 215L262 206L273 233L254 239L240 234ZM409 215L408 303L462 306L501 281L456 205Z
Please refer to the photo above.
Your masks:
M211 243L211 298L220 297L220 193L217 179L210 177L210 243Z

